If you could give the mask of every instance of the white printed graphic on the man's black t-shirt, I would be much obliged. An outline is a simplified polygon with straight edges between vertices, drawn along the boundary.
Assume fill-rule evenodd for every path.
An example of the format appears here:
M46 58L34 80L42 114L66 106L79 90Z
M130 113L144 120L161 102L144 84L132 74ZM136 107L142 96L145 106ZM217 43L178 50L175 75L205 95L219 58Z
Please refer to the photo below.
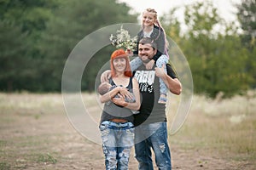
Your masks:
M155 71L136 71L134 77L139 83L139 88L141 92L148 92L149 94L153 92Z

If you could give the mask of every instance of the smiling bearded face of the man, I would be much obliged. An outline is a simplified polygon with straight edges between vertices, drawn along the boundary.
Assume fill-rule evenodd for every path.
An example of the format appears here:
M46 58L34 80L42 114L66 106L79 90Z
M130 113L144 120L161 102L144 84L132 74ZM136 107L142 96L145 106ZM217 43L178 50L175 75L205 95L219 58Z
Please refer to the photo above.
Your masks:
M156 54L156 50L149 43L139 43L138 56L142 59L143 63L148 63L154 57L154 54Z

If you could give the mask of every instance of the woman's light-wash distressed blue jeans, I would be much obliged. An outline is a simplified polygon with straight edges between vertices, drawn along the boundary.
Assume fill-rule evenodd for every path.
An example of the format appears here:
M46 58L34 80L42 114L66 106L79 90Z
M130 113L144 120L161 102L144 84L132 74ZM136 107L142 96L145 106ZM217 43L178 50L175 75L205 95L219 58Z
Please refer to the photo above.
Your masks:
M133 124L104 121L100 125L100 131L106 169L128 169L131 147L134 144Z

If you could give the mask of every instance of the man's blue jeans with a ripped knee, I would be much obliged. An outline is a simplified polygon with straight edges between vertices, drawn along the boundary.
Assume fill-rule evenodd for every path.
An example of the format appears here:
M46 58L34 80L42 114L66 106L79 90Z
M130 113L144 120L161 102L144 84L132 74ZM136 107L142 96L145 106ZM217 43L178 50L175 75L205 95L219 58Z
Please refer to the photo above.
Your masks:
M135 157L140 170L154 169L150 148L154 150L157 167L160 170L172 170L166 122L154 122L136 127L135 142Z

